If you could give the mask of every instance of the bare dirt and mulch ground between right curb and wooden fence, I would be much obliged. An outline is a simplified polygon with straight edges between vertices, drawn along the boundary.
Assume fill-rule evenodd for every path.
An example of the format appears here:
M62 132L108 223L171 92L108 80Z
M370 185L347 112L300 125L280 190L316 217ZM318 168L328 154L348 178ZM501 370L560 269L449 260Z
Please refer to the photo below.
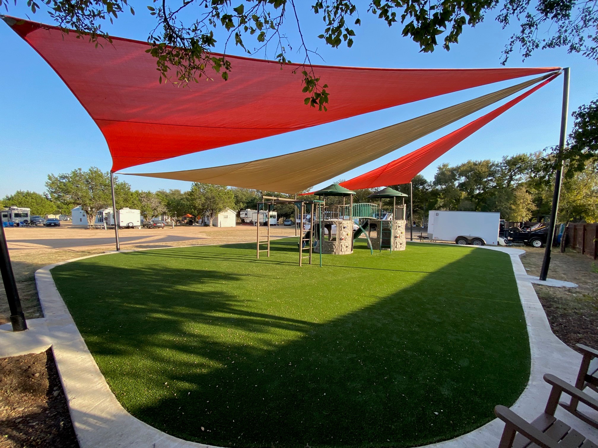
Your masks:
M544 249L524 247L521 257L530 275L539 275ZM571 348L582 343L598 348L598 263L567 248L552 252L549 278L572 281L577 288L534 285L553 333Z

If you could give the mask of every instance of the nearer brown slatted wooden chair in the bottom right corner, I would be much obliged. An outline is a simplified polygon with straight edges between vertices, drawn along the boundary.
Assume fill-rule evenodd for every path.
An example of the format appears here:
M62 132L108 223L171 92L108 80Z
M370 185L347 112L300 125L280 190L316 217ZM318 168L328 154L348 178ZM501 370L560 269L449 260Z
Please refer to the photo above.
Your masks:
M494 413L505 422L499 448L598 448L598 445L554 417L563 392L581 403L598 410L598 400L554 375L544 375L553 386L544 412L528 423L506 406L496 406Z

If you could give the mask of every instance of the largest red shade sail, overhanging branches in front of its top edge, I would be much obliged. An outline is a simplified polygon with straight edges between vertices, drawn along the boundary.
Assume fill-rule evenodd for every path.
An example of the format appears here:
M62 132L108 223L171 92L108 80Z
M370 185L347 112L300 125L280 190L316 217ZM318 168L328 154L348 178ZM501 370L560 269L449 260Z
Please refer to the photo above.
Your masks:
M371 69L315 66L329 85L328 112L304 105L300 67L227 56L228 81L158 84L147 42L95 47L75 32L5 17L56 71L108 142L112 170L247 142L492 82L558 70ZM219 55L218 55L219 56ZM301 70L298 70L301 72Z

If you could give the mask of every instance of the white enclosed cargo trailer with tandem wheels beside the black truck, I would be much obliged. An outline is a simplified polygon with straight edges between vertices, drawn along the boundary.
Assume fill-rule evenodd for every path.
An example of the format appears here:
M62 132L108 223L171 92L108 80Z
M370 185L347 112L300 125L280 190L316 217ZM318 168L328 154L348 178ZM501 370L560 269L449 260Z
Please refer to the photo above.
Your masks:
M430 241L496 246L501 214L493 211L431 210L428 214Z

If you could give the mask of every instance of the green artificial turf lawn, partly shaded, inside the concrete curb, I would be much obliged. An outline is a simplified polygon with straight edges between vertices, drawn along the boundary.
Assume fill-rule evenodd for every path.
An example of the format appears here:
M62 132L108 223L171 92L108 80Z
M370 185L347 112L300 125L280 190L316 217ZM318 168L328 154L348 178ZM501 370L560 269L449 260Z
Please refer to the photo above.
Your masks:
M415 446L514 403L529 342L509 257L408 244L297 265L294 239L52 269L134 416L217 446ZM318 256L315 256L318 261Z

